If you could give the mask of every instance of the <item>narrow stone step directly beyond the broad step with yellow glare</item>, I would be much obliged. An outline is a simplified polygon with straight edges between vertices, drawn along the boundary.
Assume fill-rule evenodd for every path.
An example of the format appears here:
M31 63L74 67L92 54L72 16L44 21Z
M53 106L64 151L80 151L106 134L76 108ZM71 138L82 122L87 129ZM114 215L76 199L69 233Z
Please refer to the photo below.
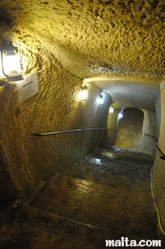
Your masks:
M94 164L77 164L75 163L71 169L67 169L63 174L71 177L76 177L79 179L84 179L86 181L91 181L97 184L102 184L108 187L118 188L120 186L124 191L129 191L132 186L142 187L143 192L148 195L150 193L150 175L147 177L142 177L138 179L136 174L130 175L114 174L114 169L108 168L106 166L98 166Z

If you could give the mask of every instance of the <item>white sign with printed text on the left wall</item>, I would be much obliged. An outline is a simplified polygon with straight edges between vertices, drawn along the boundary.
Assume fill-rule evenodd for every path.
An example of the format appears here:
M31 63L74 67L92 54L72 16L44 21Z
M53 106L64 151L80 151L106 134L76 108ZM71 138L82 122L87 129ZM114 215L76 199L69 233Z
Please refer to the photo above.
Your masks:
M19 104L38 93L38 73L27 75L23 80L17 81L17 91Z

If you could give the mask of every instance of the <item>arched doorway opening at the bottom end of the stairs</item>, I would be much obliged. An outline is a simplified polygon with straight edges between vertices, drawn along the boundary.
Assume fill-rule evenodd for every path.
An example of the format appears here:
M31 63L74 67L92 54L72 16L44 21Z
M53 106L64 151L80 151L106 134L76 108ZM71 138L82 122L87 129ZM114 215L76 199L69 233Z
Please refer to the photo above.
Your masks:
M144 114L140 109L125 108L119 120L115 146L126 149L141 149Z

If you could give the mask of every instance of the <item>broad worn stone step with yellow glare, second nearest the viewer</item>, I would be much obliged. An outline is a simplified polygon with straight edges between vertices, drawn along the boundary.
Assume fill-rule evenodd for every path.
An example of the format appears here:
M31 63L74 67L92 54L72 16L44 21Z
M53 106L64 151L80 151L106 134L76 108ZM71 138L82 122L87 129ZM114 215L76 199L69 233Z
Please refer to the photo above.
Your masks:
M42 195L34 195L36 199L31 203L33 207L76 222L134 239L149 239L156 234L156 215L152 199L146 198L141 191L126 192L120 186L110 188L56 174L43 189Z

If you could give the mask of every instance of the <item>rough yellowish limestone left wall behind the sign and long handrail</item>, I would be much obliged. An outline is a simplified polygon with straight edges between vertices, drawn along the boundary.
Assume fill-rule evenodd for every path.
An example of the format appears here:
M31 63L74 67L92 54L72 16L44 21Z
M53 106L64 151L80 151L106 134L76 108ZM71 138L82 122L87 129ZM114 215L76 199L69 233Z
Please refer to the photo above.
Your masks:
M15 83L1 86L0 202L26 198L39 181L48 181L55 172L79 162L94 150L103 136L98 131L48 137L31 135L105 126L109 106L108 95L105 105L96 103L99 89L94 85L89 86L88 101L81 102L78 94L82 80L58 64L50 65L39 56L34 56L33 62L39 75L36 95L19 104Z

